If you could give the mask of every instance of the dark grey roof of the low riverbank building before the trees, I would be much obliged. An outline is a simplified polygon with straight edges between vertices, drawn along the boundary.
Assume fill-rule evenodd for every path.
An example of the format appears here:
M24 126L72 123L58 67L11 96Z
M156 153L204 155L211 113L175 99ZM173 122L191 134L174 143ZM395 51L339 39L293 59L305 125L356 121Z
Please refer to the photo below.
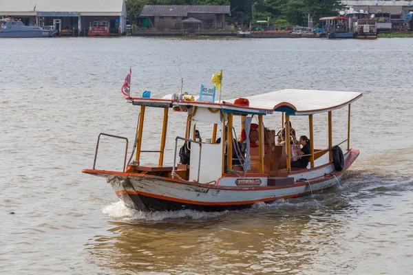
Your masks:
M187 17L189 12L230 14L230 8L229 5L145 5L140 16Z

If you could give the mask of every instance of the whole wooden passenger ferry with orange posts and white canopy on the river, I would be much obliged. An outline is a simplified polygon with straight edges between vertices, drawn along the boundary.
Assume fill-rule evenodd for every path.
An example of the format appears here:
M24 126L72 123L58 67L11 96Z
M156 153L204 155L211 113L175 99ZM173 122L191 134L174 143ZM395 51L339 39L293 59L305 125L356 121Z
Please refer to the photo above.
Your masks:
M320 192L339 184L343 173L359 155L359 151L350 147L350 104L361 96L359 92L284 89L221 102L204 102L202 97L178 97L176 94L164 98L127 98L129 104L140 106L134 146L136 154L132 153L134 161L125 168L126 146L123 171L96 169L99 138L107 135L101 133L93 168L84 169L83 173L104 177L125 206L138 210L232 210ZM343 107L348 107L348 136L337 144L346 145L341 151L339 146L332 144L332 112ZM144 125L147 108L163 113L160 146L154 151L149 151L145 140L142 140L145 127L151 124L149 120L149 125ZM170 110L183 114L182 132L185 129L185 136L175 137L173 163L165 164ZM265 126L269 124L264 126L265 117L274 113L282 114L280 124L284 125L285 119L286 133L290 133L288 122L291 117L308 116L310 161L306 168L292 168L290 160L293 159L294 145L290 142L278 145L275 142L276 130L267 129ZM328 115L326 148L313 146L313 115L316 113ZM237 138L235 130L228 131L233 129L235 118L242 120L239 135L245 139L242 142L246 145L244 151L235 141L224 142ZM251 122L253 118L257 119L256 124ZM211 125L211 140L195 138L193 131L197 123ZM109 136L122 138L127 143L126 137ZM217 137L220 139L216 140ZM180 151L178 141L186 142L181 147L184 151L190 149L190 164L176 163ZM188 144L191 144L190 148ZM140 162L143 153L153 152L159 153L158 165ZM235 157L234 152L237 153Z

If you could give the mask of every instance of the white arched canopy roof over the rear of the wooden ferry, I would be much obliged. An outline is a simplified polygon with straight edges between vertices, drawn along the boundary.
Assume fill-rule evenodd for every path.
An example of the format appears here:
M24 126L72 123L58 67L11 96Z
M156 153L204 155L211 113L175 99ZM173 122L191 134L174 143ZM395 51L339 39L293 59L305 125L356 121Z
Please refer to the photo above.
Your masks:
M247 96L246 99L249 101L249 108L310 115L339 109L359 99L362 95L357 91L284 89ZM233 102L233 100L225 100L225 102Z

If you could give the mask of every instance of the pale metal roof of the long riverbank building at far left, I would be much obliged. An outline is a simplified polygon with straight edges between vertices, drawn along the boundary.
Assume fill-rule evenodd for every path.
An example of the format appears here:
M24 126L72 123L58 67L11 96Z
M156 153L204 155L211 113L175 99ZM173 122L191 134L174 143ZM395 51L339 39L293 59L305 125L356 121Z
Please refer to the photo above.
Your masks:
M117 12L125 0L0 0L0 12Z

